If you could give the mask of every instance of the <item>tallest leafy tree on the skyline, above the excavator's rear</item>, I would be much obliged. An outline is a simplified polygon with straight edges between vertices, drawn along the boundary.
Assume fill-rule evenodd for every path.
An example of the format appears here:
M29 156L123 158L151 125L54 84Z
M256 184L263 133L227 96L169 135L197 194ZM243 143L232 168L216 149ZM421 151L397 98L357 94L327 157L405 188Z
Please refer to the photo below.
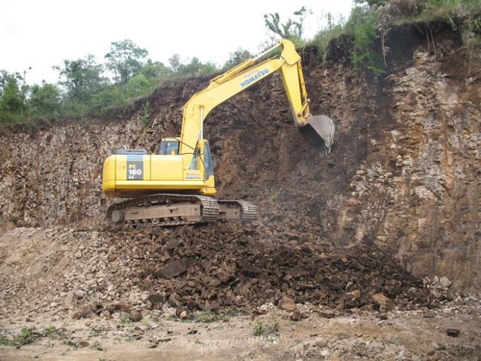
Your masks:
M145 64L146 49L138 47L132 40L112 42L110 52L105 54L107 69L115 73L115 80L125 83Z

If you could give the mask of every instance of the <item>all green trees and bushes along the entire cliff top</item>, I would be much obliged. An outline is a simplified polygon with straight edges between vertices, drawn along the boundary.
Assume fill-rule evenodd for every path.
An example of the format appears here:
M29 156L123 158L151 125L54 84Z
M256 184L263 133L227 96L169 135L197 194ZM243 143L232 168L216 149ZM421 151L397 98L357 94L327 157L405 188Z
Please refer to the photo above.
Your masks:
M279 13L264 15L266 28L275 39L285 37L298 48L314 46L319 59L333 42L352 45L350 60L355 68L372 71L375 76L385 73L386 35L393 26L417 25L434 40L431 28L445 23L460 30L463 47L470 59L481 58L481 0L355 0L348 19L335 18L331 13L321 16L319 32L310 40L305 38L305 20L312 13L305 6L282 19ZM319 16L319 14L316 14ZM322 15L322 14L321 14ZM279 52L275 53L279 54ZM272 56L273 54L271 54ZM148 59L148 50L131 40L112 42L105 54L105 64L93 55L64 60L54 66L59 72L57 84L25 84L25 72L9 73L0 70L0 127L37 122L73 119L84 122L95 117L115 117L141 110L141 122L148 126L153 112L146 99L166 81L199 76L213 76L249 59L245 49L230 54L224 66L193 57L182 61L173 54L168 64ZM141 100L141 107L136 104ZM143 104L143 105L142 105Z

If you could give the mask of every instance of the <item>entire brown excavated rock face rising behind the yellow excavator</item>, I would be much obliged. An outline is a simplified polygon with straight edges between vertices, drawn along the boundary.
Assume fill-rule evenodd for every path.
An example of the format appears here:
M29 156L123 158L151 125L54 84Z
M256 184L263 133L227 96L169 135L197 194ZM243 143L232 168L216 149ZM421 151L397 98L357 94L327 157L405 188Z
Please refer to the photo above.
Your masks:
M417 35L388 44L388 73L377 82L351 69L347 51L337 49L326 64L314 49L303 52L311 112L337 127L326 158L292 125L278 76L215 109L205 134L218 196L256 203L266 242L375 244L416 276L447 277L452 290L479 288L481 81L468 74L459 34L434 35L436 56ZM100 189L103 160L123 146L155 151L160 138L179 134L184 102L206 84L159 90L148 124L139 111L0 134L0 229L98 225L109 203ZM230 277L224 271L219 282ZM293 264L290 277L304 271Z

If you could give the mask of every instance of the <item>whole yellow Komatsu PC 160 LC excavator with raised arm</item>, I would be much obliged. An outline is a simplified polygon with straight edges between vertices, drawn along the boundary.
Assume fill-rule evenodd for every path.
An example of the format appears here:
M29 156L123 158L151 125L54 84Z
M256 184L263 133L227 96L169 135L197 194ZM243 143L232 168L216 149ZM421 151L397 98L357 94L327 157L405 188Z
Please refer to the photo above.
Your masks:
M281 47L278 58L258 62ZM250 221L257 208L247 201L214 199L215 181L209 143L203 138L203 122L222 102L263 78L280 72L299 127L309 126L319 134L321 153L329 153L334 137L333 121L309 113L301 57L289 40L247 59L213 78L204 90L184 105L182 131L177 138L162 139L158 154L145 149L121 149L104 162L102 190L109 197L128 198L107 209L109 225L154 223L183 225L215 220Z

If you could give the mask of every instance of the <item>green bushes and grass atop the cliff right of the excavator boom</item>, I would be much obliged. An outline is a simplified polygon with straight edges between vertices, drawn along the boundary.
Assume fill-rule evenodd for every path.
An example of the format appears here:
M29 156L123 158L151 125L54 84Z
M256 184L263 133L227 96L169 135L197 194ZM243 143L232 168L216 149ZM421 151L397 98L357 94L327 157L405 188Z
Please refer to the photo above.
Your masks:
M387 5L389 6L383 6ZM350 54L357 69L369 69L376 76L385 72L384 37L392 26L446 23L461 29L463 45L473 55L481 50L481 0L355 0L347 21L333 21L326 15L327 25L307 45L315 45L325 59L331 40L352 37ZM431 35L432 36L432 35Z

